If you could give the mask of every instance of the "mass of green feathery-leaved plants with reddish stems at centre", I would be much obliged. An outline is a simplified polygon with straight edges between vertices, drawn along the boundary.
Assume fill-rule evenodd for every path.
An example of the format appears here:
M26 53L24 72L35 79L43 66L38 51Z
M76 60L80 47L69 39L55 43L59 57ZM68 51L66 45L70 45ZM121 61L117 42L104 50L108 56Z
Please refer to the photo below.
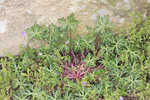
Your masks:
M75 35L74 15L27 29L39 48L1 58L2 100L146 100L150 95L150 17L127 34L115 35L108 17L88 34Z

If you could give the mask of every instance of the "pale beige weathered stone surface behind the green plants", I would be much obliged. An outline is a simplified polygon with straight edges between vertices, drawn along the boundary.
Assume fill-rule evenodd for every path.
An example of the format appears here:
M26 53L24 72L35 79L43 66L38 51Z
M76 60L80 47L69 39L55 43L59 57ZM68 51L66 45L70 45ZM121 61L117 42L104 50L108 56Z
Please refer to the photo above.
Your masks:
M150 0L0 0L0 56L18 54L19 45L26 45L24 29L34 23L56 23L58 18L75 13L80 31L93 26L97 16L109 15L117 27L130 22L132 12L149 14Z

